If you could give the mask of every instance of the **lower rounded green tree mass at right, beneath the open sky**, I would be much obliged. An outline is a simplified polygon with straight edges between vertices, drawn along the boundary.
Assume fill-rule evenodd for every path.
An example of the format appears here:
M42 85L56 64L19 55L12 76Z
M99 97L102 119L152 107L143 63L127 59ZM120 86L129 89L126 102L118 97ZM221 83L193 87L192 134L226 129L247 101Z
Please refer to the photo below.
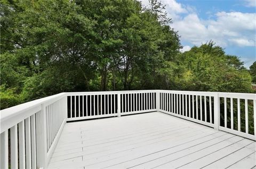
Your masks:
M190 84L181 88L183 90L252 92L251 76L242 66L243 62L235 56L226 55L212 42L182 53L179 65L183 68L182 83Z

